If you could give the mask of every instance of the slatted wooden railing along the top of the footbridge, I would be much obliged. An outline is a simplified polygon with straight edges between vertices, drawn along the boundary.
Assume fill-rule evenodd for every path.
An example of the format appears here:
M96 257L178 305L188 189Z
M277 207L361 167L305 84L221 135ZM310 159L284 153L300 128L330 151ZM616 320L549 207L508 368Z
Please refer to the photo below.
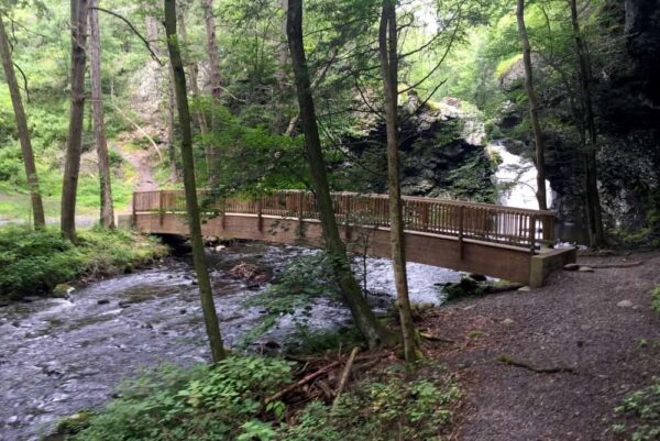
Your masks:
M205 200L205 211L319 219L315 197L308 191L282 190L256 199ZM386 195L332 194L338 222L353 225L389 227ZM404 197L406 230L472 239L536 250L554 240L554 213L488 203ZM144 191L133 195L133 213L184 212L184 191Z

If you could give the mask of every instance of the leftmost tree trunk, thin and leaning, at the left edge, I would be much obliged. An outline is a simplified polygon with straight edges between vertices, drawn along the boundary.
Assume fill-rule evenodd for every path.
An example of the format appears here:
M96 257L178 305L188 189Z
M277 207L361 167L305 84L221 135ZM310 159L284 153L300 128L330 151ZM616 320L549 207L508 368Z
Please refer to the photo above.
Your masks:
M14 115L16 119L16 129L19 132L19 141L21 142L23 163L25 164L25 176L28 177L30 199L32 200L32 217L34 219L34 228L38 229L46 224L44 205L42 202L41 191L38 189L38 178L36 176L34 152L32 151L32 141L30 140L30 131L28 129L28 118L25 117L25 110L23 109L21 91L19 89L19 82L16 81L16 75L14 73L11 51L9 48L9 41L7 38L7 31L4 30L2 16L0 16L0 53L2 56L4 77L7 79L7 86L9 87L9 93L11 95L11 102L13 104Z

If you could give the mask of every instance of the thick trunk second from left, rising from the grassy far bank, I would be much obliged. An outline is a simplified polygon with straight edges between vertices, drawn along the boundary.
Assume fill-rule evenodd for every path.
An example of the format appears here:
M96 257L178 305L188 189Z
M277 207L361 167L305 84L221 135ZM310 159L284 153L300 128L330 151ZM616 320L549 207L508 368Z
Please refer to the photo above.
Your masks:
M85 112L85 44L87 41L87 0L72 0L72 92L69 110L69 131L64 163L64 183L62 186L62 234L76 241L76 196L80 153L82 147L82 122Z

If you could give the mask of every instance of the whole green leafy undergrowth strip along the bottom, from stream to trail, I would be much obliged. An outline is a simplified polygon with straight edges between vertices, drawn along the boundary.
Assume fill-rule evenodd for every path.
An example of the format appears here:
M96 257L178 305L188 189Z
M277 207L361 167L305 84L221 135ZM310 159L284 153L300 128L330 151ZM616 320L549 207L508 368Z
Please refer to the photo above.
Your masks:
M290 362L260 356L164 368L125 383L105 409L64 420L61 433L69 441L431 441L447 432L461 395L446 374L416 379L394 366L344 393L334 407L267 403L292 384L292 371Z

